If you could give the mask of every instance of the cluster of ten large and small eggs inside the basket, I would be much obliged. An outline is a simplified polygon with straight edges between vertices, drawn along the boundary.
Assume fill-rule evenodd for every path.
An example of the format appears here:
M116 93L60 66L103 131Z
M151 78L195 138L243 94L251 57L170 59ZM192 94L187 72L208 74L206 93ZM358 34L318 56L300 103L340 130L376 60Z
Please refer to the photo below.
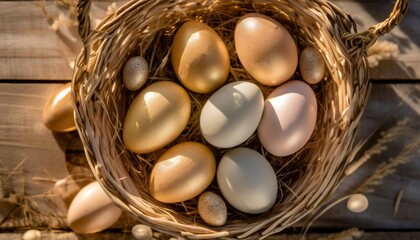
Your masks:
M169 204L199 196L198 213L213 226L227 220L225 200L247 214L279 200L277 175L284 173L271 164L285 164L279 159L310 140L318 107L316 85L309 84L325 77L321 53L299 51L289 31L266 15L243 15L231 34L237 60L223 36L189 20L172 39L166 67L174 80L149 79L150 59L143 56L132 56L122 70L133 91L124 144L140 158L157 157L150 162L150 194ZM231 61L240 62L242 74L231 73ZM199 137L185 137L194 131Z

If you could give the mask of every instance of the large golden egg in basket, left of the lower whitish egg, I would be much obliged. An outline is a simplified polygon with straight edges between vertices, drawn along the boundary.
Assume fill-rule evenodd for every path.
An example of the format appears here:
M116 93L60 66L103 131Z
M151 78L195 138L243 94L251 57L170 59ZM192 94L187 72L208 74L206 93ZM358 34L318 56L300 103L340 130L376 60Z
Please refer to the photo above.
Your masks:
M168 149L153 167L150 193L161 202L182 202L203 192L215 174L216 160L206 145L179 143Z

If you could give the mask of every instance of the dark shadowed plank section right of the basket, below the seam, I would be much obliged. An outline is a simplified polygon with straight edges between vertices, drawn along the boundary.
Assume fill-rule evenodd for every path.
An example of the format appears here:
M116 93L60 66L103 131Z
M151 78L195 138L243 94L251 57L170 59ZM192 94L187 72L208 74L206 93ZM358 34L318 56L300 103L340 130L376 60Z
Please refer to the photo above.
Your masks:
M395 89L402 89L403 92ZM409 119L408 131L401 137L387 145L387 150L382 154L373 155L362 167L351 175L338 190L337 195L344 195L356 189L367 179L378 166L391 158L401 156L404 146L420 136L420 102L417 105L401 100L399 95L409 99L418 99L420 96L419 84L374 84L372 95L361 121L358 139L367 139L373 134L372 139L362 149L368 149L380 138L378 132L386 132L404 118ZM416 109L417 108L417 109ZM419 147L416 148L418 151ZM400 165L394 174L386 177L382 184L374 188L373 193L366 194L369 208L363 213L352 213L347 210L343 202L329 210L316 222L319 227L358 227L362 229L420 229L417 219L420 214L420 151L413 155L411 162ZM395 200L398 193L403 190L401 203L397 214L394 216Z

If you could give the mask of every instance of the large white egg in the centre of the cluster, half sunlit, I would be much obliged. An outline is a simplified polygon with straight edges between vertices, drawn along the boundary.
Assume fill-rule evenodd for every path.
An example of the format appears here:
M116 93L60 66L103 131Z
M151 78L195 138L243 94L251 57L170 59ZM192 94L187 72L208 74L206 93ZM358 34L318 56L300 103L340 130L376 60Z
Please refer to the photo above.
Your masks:
M264 96L257 85L245 81L229 83L204 104L201 133L215 147L237 146L255 132L263 109Z

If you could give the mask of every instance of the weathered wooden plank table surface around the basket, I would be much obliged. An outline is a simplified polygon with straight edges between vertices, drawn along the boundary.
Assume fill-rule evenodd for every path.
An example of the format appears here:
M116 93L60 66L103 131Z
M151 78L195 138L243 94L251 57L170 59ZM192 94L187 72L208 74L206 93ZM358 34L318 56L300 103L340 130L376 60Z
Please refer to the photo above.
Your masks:
M390 0L335 3L353 16L359 31L385 19L393 7ZM43 230L45 239L130 239L125 231L135 222L128 216L112 231L71 235L64 221L66 203L51 194L58 179L69 174L89 176L89 170L77 133L53 133L41 121L50 94L72 77L80 42L71 29L51 29L52 21L48 22L39 4L45 4L55 19L60 14L65 19L66 10L52 1L0 0L0 239L20 239L29 228ZM93 11L100 17L110 4L96 2ZM381 132L389 132L398 123L404 122L408 131L387 143L381 153L372 153L340 186L337 197L352 193L382 169L382 163L399 158L410 161L394 166L393 173L366 193L369 208L365 212L352 213L342 202L315 221L310 238L358 228L365 232L360 239L420 239L419 13L420 0L410 0L406 18L381 39L397 44L400 53L371 68L372 94L357 137L367 142L360 155L369 153L380 139L385 141ZM412 143L417 145L407 149Z

